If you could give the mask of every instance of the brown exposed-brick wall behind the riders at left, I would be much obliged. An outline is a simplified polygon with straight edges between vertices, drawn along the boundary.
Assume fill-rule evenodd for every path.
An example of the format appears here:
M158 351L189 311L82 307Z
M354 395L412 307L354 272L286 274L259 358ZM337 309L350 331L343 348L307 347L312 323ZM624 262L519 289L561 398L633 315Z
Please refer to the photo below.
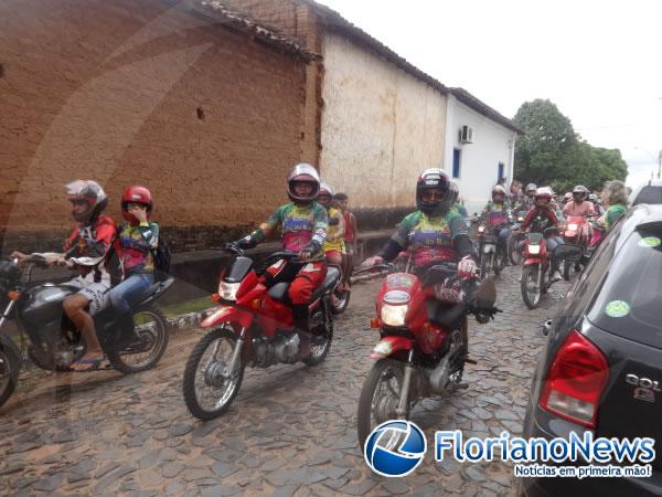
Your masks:
M234 235L286 200L288 168L319 154L306 65L182 9L0 3L4 252L40 248L68 228L63 186L75 178L102 182L118 219L124 187L148 186L154 219L183 234L182 250Z

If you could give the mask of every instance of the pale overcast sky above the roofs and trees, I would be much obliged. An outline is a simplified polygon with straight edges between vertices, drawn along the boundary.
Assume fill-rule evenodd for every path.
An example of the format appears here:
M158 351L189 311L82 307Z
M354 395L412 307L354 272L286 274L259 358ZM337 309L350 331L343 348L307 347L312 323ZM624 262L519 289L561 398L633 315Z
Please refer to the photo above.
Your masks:
M318 0L446 86L512 118L548 98L628 184L658 173L662 1Z

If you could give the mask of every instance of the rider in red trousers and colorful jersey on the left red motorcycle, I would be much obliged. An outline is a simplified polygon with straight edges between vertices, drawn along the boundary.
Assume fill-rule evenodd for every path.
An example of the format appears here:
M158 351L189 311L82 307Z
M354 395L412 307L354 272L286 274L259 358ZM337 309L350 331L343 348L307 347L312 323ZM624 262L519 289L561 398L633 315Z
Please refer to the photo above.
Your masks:
M327 276L322 245L327 236L327 210L316 200L320 190L320 177L309 163L298 163L287 177L287 194L291 202L280 205L253 233L238 240L237 246L253 248L280 230L282 248L298 252L299 262L278 261L267 268L263 278L267 286L291 282L288 297L292 304L295 327L308 329L308 304L314 289ZM307 357L310 340L300 335L300 356Z

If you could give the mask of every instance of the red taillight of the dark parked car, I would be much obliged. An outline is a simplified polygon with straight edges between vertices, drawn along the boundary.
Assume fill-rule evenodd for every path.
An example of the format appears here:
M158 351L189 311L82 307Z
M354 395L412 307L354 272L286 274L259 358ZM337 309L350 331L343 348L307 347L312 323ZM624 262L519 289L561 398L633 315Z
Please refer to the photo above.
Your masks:
M589 429L596 427L602 389L609 380L605 355L573 330L552 361L538 405Z

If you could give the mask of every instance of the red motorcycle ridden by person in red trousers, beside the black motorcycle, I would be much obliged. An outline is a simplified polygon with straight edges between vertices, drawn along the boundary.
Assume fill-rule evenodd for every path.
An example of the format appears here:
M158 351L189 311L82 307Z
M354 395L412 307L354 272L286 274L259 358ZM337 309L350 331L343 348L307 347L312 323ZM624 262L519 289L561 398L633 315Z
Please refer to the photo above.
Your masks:
M234 255L221 273L218 307L202 322L210 331L195 345L184 370L183 391L186 408L206 421L223 414L242 385L246 366L268 368L299 360L319 364L329 353L333 339L331 293L339 284L338 267L329 266L323 284L316 289L308 307L309 331L295 329L288 303L289 283L267 288L260 275L273 264L307 264L299 254L276 252L258 268L244 251L228 245ZM300 336L310 340L310 353L300 359Z

